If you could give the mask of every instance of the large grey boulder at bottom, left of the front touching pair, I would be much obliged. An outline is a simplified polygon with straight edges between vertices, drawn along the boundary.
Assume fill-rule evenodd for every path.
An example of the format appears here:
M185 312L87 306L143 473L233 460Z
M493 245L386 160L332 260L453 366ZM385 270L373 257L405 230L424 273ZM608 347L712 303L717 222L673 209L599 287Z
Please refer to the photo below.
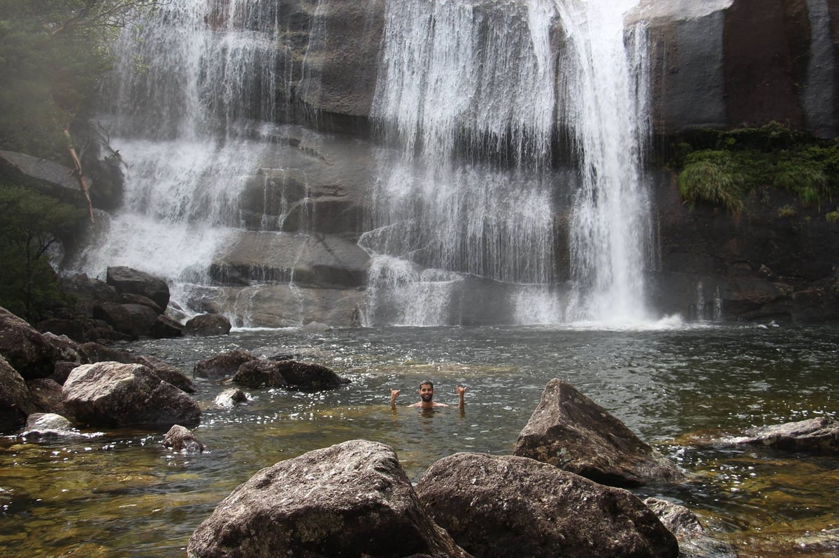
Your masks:
M264 468L195 530L190 558L469 556L388 446L352 440Z

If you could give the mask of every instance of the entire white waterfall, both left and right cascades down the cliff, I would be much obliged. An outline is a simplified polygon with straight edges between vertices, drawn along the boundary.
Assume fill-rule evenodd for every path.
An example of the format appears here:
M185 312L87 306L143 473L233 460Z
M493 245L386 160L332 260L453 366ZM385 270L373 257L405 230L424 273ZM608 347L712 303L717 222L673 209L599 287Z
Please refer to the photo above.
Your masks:
M384 4L371 109L378 171L359 240L373 258L351 270L369 269L362 322L645 317L652 244L641 170L645 38L638 25L624 28L636 3ZM288 34L282 9L291 8L268 0L181 0L123 34L122 64L104 95L110 110L101 117L127 164L123 205L102 218L107 230L72 269L102 276L107 266L137 267L167 279L173 298L187 305L199 297L193 293L221 281L227 291L217 307L234 324L279 325L303 319L302 310L300 318L270 314L302 308L293 269L304 251L320 251L308 268L300 266L309 281L326 269L325 258L356 257L310 235L317 217L300 208L311 163L293 168L276 141L284 133L278 127L307 110L301 100L332 94L320 82L320 64L331 48L326 23L335 7L307 4L309 23ZM300 42L304 34L308 46ZM309 157L304 152L298 158ZM321 163L328 169L335 161ZM300 190L294 200L284 198L286 177L289 189ZM333 179L320 184L331 189ZM259 180L263 189L253 187ZM276 211L246 216L246 192L263 193L263 207ZM286 226L294 210L300 214ZM238 249L243 236L250 260L231 261L231 246ZM220 251L227 260L216 265ZM260 268L266 260L291 263ZM239 274L244 266L250 271ZM312 288L334 289L336 276L321 276ZM353 281L339 287L358 292L363 281ZM287 283L295 298L261 310L267 322L252 321L243 308L265 283ZM307 296L314 307L334 307L326 295ZM346 291L328 296L357 304ZM357 311L344 319L351 313Z

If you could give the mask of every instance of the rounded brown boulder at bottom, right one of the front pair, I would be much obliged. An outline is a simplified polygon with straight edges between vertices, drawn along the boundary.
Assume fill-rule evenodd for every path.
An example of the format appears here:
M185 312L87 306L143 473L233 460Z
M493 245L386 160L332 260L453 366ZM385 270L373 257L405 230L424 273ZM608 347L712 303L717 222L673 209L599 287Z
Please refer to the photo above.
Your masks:
M665 558L679 545L632 493L525 457L456 453L417 494L436 524L482 558Z

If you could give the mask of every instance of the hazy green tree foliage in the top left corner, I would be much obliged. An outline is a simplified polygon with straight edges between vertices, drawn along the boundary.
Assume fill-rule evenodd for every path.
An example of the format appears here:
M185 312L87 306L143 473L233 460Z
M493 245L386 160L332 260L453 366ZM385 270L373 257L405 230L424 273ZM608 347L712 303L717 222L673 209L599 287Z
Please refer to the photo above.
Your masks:
M0 148L65 160L64 130L133 10L158 0L0 0Z

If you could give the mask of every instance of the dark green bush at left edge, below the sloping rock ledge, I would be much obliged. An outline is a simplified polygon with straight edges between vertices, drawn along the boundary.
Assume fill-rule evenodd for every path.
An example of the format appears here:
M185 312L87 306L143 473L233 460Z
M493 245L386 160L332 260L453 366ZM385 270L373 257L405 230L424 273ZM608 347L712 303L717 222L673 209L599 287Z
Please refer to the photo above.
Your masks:
M0 306L36 321L61 301L49 250L85 215L23 186L0 184Z

